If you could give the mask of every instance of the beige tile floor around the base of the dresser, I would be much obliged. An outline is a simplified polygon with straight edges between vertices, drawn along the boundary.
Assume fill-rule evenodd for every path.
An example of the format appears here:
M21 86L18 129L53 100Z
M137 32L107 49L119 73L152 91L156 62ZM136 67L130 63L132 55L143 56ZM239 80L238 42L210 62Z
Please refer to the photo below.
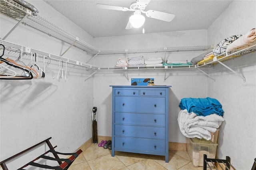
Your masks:
M169 150L169 162L164 156L115 152L90 145L84 150L68 170L202 170L194 167L185 151Z

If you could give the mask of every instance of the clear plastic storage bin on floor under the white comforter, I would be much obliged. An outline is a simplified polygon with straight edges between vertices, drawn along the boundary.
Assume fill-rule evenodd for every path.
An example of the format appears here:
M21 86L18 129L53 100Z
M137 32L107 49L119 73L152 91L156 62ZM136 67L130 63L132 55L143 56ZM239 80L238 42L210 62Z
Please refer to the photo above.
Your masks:
M204 165L204 154L207 158L215 158L218 144L202 141L198 138L187 138L187 149L190 160L194 166Z

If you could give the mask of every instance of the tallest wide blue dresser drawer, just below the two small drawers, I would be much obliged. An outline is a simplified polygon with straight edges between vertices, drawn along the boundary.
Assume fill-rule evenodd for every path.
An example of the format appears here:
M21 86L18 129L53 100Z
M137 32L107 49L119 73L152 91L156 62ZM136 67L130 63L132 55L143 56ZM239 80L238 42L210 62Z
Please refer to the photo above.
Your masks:
M165 98L116 96L115 111L165 113Z

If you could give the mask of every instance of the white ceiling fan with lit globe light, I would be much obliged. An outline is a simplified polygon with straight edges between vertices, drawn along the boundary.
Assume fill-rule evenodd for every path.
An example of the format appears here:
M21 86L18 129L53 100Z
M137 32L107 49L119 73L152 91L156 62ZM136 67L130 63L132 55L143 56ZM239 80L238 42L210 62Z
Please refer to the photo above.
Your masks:
M112 6L106 4L96 4L98 8L107 10L118 10L118 11L133 11L132 16L130 16L129 21L125 29L139 28L145 22L145 17L141 13L146 14L149 18L155 18L162 21L170 22L174 19L174 14L169 14L166 12L160 12L155 10L144 11L150 0L136 0L136 2L130 5L130 9L121 6Z

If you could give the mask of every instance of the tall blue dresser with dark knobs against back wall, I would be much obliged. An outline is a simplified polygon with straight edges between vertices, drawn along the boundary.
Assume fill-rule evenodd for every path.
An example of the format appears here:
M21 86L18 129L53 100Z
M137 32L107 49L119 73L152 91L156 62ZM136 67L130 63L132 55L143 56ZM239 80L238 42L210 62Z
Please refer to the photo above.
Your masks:
M112 87L112 156L115 151L154 154L168 160L171 86Z

